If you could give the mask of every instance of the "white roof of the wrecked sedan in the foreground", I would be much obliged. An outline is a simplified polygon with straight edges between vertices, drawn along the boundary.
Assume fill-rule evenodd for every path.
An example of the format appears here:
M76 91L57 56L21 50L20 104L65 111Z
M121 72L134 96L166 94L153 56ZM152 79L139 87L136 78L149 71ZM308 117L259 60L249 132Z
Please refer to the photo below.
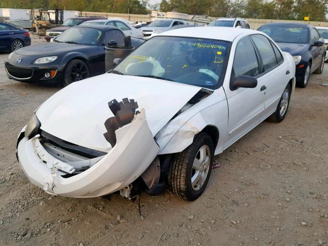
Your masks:
M226 40L232 42L239 35L263 34L262 32L233 27L186 27L181 29L169 30L157 36L177 36L177 37L196 37Z

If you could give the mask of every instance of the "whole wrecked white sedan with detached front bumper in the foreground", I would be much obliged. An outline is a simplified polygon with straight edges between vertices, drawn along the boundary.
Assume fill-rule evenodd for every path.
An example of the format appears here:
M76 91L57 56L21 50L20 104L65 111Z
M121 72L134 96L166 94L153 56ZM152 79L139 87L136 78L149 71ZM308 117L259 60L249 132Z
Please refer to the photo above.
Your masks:
M249 29L172 30L115 62L51 96L20 132L18 161L34 185L128 198L169 186L195 200L214 155L263 120L282 121L295 88L293 56Z

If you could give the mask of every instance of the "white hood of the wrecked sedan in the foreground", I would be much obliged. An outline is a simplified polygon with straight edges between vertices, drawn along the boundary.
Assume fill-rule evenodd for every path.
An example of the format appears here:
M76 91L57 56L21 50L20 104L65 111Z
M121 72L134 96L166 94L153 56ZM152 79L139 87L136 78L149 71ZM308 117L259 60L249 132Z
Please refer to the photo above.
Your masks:
M41 129L60 139L86 148L108 152L104 123L114 116L108 107L112 99L128 97L146 110L153 134L201 88L167 80L106 73L75 82L58 91L40 106L36 116Z

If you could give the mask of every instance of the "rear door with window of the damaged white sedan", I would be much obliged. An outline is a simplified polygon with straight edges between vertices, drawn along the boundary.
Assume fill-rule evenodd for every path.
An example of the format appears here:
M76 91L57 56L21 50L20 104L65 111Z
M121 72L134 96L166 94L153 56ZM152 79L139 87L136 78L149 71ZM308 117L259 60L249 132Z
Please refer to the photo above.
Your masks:
M251 39L261 60L261 76L257 80L264 96L264 112L260 118L263 121L276 110L291 71L280 66L283 63L282 54L267 37L255 34L251 35Z

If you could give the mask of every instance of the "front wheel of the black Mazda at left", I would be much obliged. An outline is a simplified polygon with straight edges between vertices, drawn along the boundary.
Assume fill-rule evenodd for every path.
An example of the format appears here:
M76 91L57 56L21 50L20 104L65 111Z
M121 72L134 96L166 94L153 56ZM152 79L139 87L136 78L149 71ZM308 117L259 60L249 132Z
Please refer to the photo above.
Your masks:
M64 72L64 86L89 78L90 72L87 64L83 60L74 59L71 60L65 68Z

